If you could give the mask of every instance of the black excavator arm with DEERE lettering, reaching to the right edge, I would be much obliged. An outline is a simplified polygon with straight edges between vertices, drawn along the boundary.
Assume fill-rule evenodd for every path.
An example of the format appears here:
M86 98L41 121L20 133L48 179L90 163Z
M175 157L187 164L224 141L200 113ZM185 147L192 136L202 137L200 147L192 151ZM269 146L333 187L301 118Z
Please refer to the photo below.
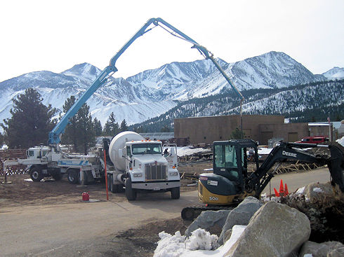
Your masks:
M305 151L305 148L316 147L329 148L331 155L315 155ZM344 192L344 153L342 146L336 143L317 145L286 142L280 142L279 146L273 148L262 165L249 176L245 181L246 191L252 192L256 190L256 196L259 196L274 176L273 172L268 173L269 170L276 162L285 162L286 160L302 160L304 162L328 165L332 183L338 185L340 190Z

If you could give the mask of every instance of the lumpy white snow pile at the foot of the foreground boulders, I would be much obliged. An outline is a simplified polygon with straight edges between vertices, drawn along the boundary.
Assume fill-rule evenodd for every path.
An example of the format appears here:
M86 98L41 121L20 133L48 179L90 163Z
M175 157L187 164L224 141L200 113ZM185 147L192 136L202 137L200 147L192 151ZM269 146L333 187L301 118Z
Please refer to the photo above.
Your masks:
M220 257L237 242L246 225L234 225L232 229L232 235L223 246L218 249L218 236L210 235L204 229L198 228L192 232L192 235L188 238L180 235L177 231L175 235L170 235L166 232L160 232L161 238L158 242L157 249L154 251L154 257ZM216 249L213 250L212 249Z

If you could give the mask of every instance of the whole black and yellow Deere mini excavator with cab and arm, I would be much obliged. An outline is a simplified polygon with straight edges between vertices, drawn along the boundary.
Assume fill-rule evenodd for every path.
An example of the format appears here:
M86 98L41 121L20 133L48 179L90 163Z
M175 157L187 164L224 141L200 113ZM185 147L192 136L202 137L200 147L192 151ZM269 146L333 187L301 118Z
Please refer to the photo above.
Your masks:
M258 144L252 139L237 139L213 142L213 173L199 175L199 202L206 206L190 206L182 210L182 218L193 220L201 211L232 209L244 197L252 195L259 198L269 181L274 176L270 169L276 162L301 160L327 165L332 184L338 185L344 192L344 151L343 146L335 142L329 145L298 144L280 142L274 147L265 161L259 166ZM315 155L305 148L328 148L329 155ZM256 170L249 174L246 151L254 149Z

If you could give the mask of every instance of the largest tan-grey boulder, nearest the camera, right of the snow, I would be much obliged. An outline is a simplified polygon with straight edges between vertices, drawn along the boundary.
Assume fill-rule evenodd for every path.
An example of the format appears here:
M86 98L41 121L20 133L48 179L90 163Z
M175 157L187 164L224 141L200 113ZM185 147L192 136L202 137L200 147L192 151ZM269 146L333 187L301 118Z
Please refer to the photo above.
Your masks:
M226 256L292 256L310 237L310 221L302 212L277 202L267 202Z

